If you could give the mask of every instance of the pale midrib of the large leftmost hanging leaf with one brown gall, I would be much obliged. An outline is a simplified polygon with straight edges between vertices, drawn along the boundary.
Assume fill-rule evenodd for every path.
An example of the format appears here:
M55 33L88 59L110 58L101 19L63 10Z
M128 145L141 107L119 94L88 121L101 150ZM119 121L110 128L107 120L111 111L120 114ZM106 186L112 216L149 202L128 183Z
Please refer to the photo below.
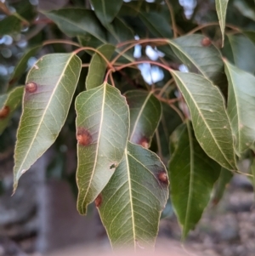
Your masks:
M35 141L35 139L37 138L37 134L38 134L38 132L39 132L39 129L40 129L41 126L42 126L42 121L43 121L43 119L44 119L44 117L45 117L45 115L46 115L46 112L48 111L48 106L49 106L50 103L52 102L53 97L54 97L54 94L55 94L57 88L59 88L60 81L61 81L61 79L63 78L63 74L65 73L65 70L66 70L67 66L69 65L69 63L70 63L70 61L71 61L71 59L73 58L74 55L75 55L75 54L71 54L70 58L66 61L65 67L64 67L63 71L61 72L61 74L60 74L60 76L59 76L59 80L56 82L56 86L55 86L55 88L54 88L54 90L53 90L53 92L52 92L52 94L51 94L51 96L50 96L50 98L49 98L49 100L48 100L48 104L46 105L45 110L44 110L43 113L42 113L41 121L40 121L40 122L38 123L38 125L37 125L36 133L34 134L34 137L33 137L32 140L31 140L31 144L30 144L28 150L26 151L26 156L23 157L23 161L21 162L20 168L19 168L19 170L17 171L17 173L19 173L20 169L23 169L22 167L23 167L24 162L26 162L26 157L28 156L29 152L31 151L31 146L34 144L34 141ZM28 76L29 76L29 74L28 74ZM24 97L25 97L25 94L24 94ZM24 108L23 108L23 111L24 111ZM23 113L22 113L22 114L23 114Z

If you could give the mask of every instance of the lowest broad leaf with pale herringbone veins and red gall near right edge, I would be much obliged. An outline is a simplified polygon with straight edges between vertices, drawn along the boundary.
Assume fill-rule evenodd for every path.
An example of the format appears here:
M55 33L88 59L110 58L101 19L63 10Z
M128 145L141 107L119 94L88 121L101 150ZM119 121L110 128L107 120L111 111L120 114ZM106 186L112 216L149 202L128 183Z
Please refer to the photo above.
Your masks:
M122 162L96 200L112 247L153 249L167 197L167 171L159 157L128 143Z

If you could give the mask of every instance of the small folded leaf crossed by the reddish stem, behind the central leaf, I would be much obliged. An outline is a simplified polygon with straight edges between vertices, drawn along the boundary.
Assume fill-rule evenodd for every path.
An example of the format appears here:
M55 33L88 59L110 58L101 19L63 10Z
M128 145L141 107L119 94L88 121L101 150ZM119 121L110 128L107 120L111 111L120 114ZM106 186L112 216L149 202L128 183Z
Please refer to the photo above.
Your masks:
M97 50L105 56L107 60L111 60L111 56L115 51L115 47L111 44L104 44L97 48ZM86 88L96 88L99 84L102 84L105 77L105 69L107 63L97 53L94 54L88 67L88 76L86 78Z

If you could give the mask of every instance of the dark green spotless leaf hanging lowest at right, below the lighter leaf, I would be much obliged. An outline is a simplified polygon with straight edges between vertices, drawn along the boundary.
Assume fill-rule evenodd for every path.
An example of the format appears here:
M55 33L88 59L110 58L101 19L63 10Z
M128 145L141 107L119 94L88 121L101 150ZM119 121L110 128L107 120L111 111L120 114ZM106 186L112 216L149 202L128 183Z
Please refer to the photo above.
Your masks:
M171 140L174 151L169 162L170 196L184 239L207 207L220 166L201 149L189 122L180 125Z

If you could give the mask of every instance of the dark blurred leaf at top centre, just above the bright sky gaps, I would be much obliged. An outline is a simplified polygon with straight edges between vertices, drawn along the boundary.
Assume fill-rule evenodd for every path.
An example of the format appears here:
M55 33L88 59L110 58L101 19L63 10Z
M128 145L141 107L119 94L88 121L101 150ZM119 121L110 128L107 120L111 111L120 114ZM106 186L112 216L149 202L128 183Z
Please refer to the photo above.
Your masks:
M140 12L139 18L155 37L173 37L169 22L161 14L153 11L150 13Z

